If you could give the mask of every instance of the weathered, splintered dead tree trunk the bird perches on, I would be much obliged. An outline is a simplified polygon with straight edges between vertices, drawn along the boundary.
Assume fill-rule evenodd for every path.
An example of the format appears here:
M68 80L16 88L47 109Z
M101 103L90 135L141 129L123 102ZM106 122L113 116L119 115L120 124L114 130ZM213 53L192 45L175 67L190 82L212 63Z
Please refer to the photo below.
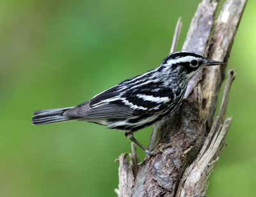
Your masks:
M246 2L227 0L214 22L218 0L203 0L191 21L182 50L227 62ZM175 38L179 38L179 31ZM177 45L177 41L173 43ZM118 196L205 196L208 177L225 147L232 120L225 119L228 92L235 78L232 70L228 72L220 111L214 120L225 69L226 66L210 66L197 73L189 82L179 109L154 125L148 148L171 144L163 154L136 166L138 157L132 144L131 163L127 154L119 157Z

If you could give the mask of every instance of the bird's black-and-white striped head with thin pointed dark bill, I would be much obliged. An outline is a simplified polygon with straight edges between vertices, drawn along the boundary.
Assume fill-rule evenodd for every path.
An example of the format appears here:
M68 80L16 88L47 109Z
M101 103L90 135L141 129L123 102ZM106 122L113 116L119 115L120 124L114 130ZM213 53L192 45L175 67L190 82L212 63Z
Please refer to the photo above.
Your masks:
M216 66L221 64L225 63L212 61L205 58L203 55L187 51L170 54L162 63L163 66L170 68L172 74L176 73L177 75L180 75L180 77L183 76L188 80L200 69L205 68L205 66Z

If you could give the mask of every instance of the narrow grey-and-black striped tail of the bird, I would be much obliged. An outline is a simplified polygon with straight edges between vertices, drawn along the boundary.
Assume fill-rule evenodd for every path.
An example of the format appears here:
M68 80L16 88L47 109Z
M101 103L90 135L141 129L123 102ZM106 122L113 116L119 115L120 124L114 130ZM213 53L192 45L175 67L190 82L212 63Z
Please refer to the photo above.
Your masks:
M53 122L65 122L68 120L74 120L76 118L63 116L64 112L72 108L74 107L37 111L34 113L35 116L33 117L32 122L35 125L35 124L49 124Z

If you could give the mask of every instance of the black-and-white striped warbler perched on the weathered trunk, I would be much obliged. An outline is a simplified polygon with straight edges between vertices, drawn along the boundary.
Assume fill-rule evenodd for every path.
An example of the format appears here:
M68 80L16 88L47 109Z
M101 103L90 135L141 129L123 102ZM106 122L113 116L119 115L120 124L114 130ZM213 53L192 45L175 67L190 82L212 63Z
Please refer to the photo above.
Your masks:
M174 52L156 69L124 80L80 105L37 111L32 121L34 125L70 120L101 124L124 131L127 138L148 156L153 156L161 149L146 149L134 138L134 132L175 112L189 80L206 66L221 64L225 63L212 61L195 52Z

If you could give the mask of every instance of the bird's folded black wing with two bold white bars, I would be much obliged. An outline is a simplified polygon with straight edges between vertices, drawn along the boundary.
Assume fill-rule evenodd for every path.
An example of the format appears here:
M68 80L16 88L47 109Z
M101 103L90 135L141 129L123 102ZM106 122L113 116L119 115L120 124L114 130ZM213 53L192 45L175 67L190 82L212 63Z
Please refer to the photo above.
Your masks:
M122 82L96 95L87 103L82 103L67 110L63 115L95 119L122 119L132 116L152 115L167 107L166 102L170 101L170 98L164 96L166 94L165 89L161 89L163 92L153 92L154 94L151 95L150 87L152 85L150 83L144 85L140 85L140 83L137 83L137 85L124 84L128 82ZM156 86L156 84L153 85ZM158 84L159 87L160 85Z

